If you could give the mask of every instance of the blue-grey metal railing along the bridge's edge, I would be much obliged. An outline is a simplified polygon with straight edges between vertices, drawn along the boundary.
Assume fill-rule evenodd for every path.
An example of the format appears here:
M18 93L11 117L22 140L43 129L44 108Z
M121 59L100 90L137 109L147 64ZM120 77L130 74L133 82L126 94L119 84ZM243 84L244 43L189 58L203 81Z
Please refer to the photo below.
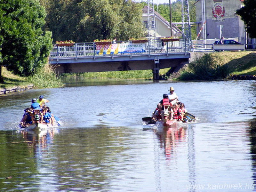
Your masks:
M117 42L118 43L118 42ZM124 41L122 43L129 43L128 41ZM187 38L181 38L179 41L166 42L166 47L163 49L161 39L153 39L149 40L145 43L145 48L143 52L127 52L127 53L112 53L106 54L97 54L96 45L94 42L90 43L74 43L73 45L59 45L53 44L52 51L50 52L49 59L76 59L84 58L84 57L93 57L96 59L102 56L131 56L132 55L148 55L150 57L151 54L169 54L173 53L189 53L189 40Z

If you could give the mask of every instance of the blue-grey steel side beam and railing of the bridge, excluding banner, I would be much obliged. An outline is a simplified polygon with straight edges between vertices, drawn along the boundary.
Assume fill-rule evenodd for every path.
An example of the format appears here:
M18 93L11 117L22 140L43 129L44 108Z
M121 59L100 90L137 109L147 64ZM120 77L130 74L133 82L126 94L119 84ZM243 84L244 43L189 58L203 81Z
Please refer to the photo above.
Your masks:
M58 46L54 44L50 52L49 60L55 63L81 62L102 62L102 61L124 61L124 60L148 60L152 56L159 59L167 58L188 58L189 42L188 39L180 41L166 42L166 50L162 50L161 39L149 40L144 43L144 52L125 52L97 54L95 43L75 43L73 46ZM135 56L135 57L134 57ZM79 60L79 61L77 61Z

